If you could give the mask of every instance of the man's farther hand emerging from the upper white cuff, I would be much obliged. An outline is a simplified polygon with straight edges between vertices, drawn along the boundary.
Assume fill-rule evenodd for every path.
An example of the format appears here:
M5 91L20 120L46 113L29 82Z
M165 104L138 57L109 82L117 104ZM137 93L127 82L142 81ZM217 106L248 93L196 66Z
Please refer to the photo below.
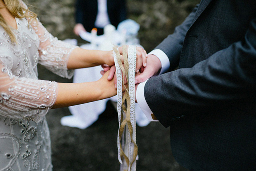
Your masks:
M157 75L162 68L158 57L153 54L148 55L147 66L140 69L141 74L135 76L135 84L145 82L148 78Z

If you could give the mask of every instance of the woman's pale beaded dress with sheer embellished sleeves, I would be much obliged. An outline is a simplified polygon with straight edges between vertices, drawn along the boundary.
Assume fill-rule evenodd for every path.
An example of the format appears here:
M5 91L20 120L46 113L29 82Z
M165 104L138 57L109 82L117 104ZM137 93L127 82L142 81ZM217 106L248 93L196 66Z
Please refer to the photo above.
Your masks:
M39 21L17 19L17 43L0 26L0 171L51 171L50 134L45 114L55 103L56 82L38 80L40 63L62 77L71 46Z

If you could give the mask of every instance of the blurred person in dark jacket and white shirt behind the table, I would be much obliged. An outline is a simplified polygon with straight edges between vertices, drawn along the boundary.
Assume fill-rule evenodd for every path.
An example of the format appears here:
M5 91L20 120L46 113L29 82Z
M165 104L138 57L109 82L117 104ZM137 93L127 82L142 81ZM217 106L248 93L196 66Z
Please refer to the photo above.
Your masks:
M77 0L76 1L76 26L74 33L80 31L90 32L97 28L97 34L103 34L107 24L117 25L126 19L125 0Z

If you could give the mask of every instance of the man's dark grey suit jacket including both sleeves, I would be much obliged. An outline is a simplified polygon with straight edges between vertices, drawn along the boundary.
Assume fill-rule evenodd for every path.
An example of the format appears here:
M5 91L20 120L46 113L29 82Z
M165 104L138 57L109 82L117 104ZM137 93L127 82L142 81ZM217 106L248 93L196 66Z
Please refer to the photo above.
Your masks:
M201 0L156 49L168 73L144 93L191 171L256 171L256 0Z

